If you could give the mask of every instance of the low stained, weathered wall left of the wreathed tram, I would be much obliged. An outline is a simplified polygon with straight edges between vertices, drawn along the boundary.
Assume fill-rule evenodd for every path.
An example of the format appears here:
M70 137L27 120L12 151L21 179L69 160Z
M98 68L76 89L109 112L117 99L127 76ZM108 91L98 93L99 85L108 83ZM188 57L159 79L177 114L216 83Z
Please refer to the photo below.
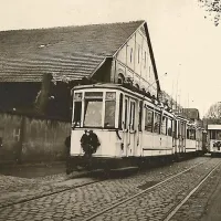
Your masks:
M0 160L48 161L65 158L71 124L0 114Z

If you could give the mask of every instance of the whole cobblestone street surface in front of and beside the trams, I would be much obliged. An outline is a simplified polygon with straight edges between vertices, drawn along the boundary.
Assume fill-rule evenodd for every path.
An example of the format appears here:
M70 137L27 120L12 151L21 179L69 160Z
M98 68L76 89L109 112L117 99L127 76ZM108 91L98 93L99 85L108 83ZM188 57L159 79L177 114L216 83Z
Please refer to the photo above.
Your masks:
M169 179L101 215L91 217L94 220L164 220L219 161L201 157L106 180L86 176L71 179L64 173L35 179L1 176L0 220L85 220ZM170 179L190 167L193 168ZM171 220L202 217L219 175L220 168Z

